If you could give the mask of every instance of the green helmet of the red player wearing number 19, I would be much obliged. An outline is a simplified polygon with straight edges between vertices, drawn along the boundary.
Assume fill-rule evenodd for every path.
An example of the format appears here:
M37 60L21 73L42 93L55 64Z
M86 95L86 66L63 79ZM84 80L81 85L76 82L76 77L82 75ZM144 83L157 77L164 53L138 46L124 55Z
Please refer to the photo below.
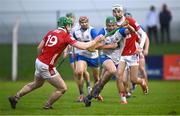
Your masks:
M67 25L72 26L72 20L67 17L60 17L57 22L58 28L65 28Z

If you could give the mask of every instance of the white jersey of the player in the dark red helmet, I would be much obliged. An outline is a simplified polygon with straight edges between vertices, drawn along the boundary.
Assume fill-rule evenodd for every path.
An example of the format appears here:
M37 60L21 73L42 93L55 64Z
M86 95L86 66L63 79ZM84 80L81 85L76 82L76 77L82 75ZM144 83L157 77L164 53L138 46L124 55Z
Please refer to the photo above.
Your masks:
M87 30L78 29L75 31L75 36L78 41L81 42L89 42L92 41L93 38L91 37L91 30L93 27L89 27ZM88 50L80 50L79 55L85 56L87 58L97 58L98 57L98 50L95 52L89 52Z

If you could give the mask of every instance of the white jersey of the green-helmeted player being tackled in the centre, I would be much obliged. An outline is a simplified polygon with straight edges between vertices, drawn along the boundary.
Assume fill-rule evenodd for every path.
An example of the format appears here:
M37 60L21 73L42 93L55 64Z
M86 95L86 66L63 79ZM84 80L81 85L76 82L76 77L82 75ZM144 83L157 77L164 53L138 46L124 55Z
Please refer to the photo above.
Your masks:
M107 31L106 31L107 33ZM118 47L115 49L107 49L103 50L103 54L111 58L115 64L118 64L121 57L121 52L123 49L123 43L124 43L124 37L119 33L119 31L116 31L114 35L111 35L105 39L105 44L111 44L111 43L117 43Z

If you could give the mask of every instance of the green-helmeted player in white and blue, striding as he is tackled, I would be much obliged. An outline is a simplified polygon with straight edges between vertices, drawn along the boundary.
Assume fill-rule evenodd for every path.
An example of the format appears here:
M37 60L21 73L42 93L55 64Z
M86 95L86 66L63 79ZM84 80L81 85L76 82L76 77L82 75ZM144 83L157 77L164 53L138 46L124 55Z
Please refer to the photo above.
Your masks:
M98 46L98 48L102 50L100 61L103 69L100 80L94 85L90 94L88 94L84 99L86 107L91 105L91 99L96 98L103 89L104 85L113 75L115 75L124 45L124 38L126 34L134 31L131 26L126 25L126 27L128 29L119 28L113 35L106 37L101 46ZM109 16L106 18L106 27L102 28L99 34L106 35L114 29L117 29L116 18Z

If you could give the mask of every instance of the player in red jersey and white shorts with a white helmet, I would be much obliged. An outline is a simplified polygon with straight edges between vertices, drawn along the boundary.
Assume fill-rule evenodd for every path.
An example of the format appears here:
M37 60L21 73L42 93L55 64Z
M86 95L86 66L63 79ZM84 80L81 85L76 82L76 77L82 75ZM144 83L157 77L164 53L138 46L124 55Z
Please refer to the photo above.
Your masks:
M122 52L122 56L119 62L119 66L116 73L117 87L119 95L121 98L121 104L127 104L126 91L123 83L123 74L125 68L128 66L130 68L130 79L133 83L140 84L143 92L148 93L148 88L145 79L138 78L138 68L139 68L139 54L143 50L144 42L146 40L146 34L139 26L139 24L132 18L125 17L123 13L123 7L116 4L112 8L113 15L118 21L118 25L121 25L124 21L128 21L136 33L131 33L126 36L125 46ZM136 46L138 35L140 36L140 43Z

